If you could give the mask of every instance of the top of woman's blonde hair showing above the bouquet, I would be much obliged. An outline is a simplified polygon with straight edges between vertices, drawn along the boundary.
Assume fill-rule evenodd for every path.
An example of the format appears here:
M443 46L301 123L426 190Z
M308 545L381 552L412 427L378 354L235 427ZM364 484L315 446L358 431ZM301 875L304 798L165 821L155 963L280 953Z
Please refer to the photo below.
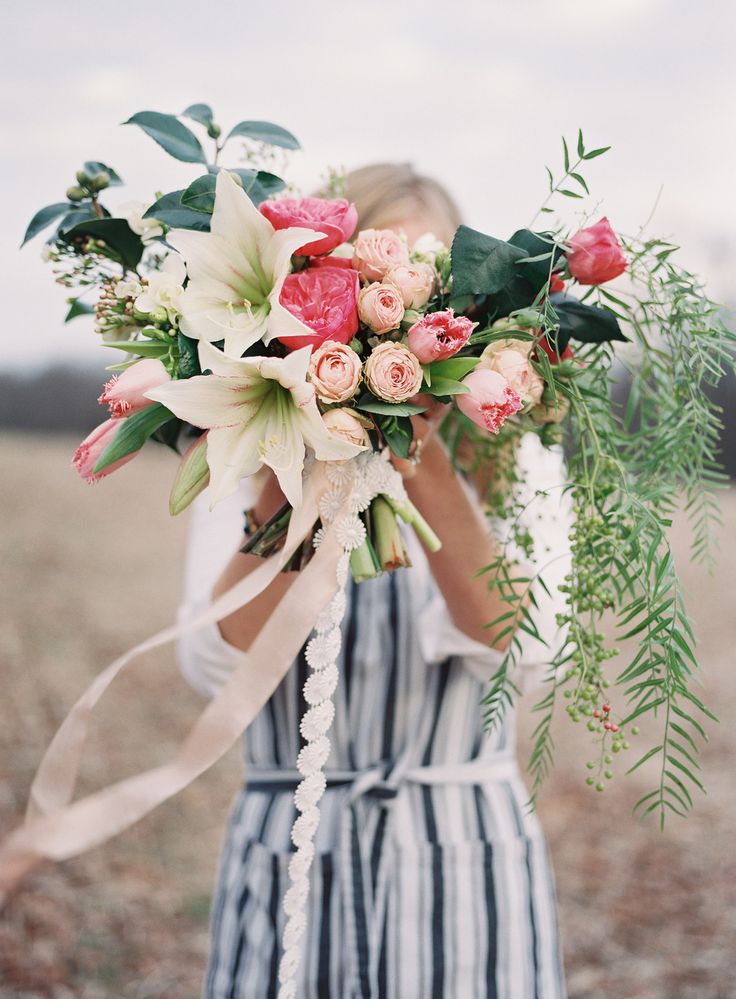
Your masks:
M433 220L433 232L452 242L462 218L450 193L432 177L416 173L410 163L372 163L351 170L345 197L358 209L361 229L385 229L415 214Z

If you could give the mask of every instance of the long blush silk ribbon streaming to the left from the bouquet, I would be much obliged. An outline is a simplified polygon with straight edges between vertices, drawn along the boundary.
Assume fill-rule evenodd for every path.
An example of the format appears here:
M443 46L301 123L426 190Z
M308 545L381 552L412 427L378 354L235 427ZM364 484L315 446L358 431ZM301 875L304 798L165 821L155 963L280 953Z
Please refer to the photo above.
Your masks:
M294 510L281 552L189 621L160 631L107 667L73 706L49 745L30 791L25 821L0 843L0 904L43 860L65 860L104 843L172 797L216 763L248 728L306 642L335 592L343 548L339 516L324 540L261 628L243 661L202 711L175 756L151 770L72 801L92 712L108 687L142 653L172 642L245 606L276 578L319 517L327 487L324 465L315 463ZM350 490L348 489L348 493ZM340 513L349 510L346 496Z

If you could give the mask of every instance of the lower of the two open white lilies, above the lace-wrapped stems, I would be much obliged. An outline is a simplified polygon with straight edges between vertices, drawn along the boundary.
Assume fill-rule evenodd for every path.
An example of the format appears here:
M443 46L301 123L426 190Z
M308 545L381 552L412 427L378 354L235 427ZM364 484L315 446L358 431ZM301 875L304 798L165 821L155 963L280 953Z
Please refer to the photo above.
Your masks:
M233 358L206 341L202 370L211 375L168 382L146 393L176 416L209 430L212 505L235 492L261 465L276 474L292 506L301 503L305 445L320 461L352 458L365 448L331 434L307 381L311 347L286 357Z

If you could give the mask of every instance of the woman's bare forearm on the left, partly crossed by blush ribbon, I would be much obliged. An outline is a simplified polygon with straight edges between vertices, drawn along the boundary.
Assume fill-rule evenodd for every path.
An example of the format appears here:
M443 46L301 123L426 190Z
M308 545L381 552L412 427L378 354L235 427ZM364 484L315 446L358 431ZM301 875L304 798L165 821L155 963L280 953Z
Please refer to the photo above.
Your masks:
M253 507L257 523L265 523L285 502L276 476L269 471L266 485ZM262 562L263 559L259 555L244 555L242 552L236 552L215 583L212 596L214 598L221 596L235 583L249 576ZM225 641L235 648L247 652L256 635L271 616L272 611L296 579L296 575L295 572L280 572L263 593L251 600L245 607L241 607L229 617L223 618L219 628Z

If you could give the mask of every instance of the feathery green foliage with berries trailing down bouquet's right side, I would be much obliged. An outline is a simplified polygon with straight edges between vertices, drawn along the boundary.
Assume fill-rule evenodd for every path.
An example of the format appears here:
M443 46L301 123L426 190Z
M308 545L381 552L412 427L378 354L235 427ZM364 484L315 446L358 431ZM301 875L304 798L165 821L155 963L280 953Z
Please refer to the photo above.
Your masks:
M588 193L579 171L605 149L588 153L579 136L577 150L577 162L572 163L564 143L560 180L548 171L550 190L541 209L546 215L553 213L550 203L556 196ZM570 180L575 189L567 186ZM576 341L574 361L550 364L546 354L537 351L547 393L569 407L564 436L574 526L570 571L562 587L566 607L558 617L564 643L549 649L544 694L534 707L539 720L529 760L531 801L536 801L552 765L552 720L564 704L570 718L584 722L593 737L596 751L587 761L587 782L601 791L613 777L616 756L630 748L639 725L649 723L647 731L656 733L655 742L626 772L657 762L656 786L635 810L641 816L656 814L663 825L669 813L685 815L694 794L705 791L697 756L707 739L706 723L716 720L697 693L696 640L669 528L684 501L692 526L692 557L704 563L712 560L719 523L715 491L726 477L718 461L720 411L709 389L733 368L736 336L724 322L721 307L676 262L677 247L642 233L623 241L629 265L622 290L618 284L615 294L594 287L580 302L550 294L563 233L562 224L555 222L543 237L548 241L546 255L540 254L535 263L546 260L547 280L531 309L527 305L510 313L515 331L509 322L500 331L498 322L494 325L498 313L487 309L487 302L497 294L495 289L485 300L476 297L476 305L487 310L476 341L533 336L539 343L546 337L560 354L571 336ZM497 250L494 256L497 264L492 267L508 268L516 259ZM477 267L482 266L478 262ZM480 288L463 290L477 296ZM596 329L608 327L611 333L614 326L618 333L598 342ZM630 343L616 344L614 350L615 340ZM625 398L620 399L624 389ZM541 640L534 590L546 589L547 567L541 559L534 575L519 570L517 553L521 549L529 554L529 537L520 526L523 511L514 500L514 473L509 475L514 463L499 464L499 456L508 454L509 445L513 451L519 434L530 429L528 422L517 419L513 427L511 421L504 426L485 452L474 442L476 467L495 462L489 509L511 524L498 557L483 569L507 607L488 627L496 640L511 636L483 700L489 728L502 722L518 696L524 635ZM536 429L550 433L549 427ZM461 467L467 434L468 427L453 414L445 435ZM611 623L617 641L636 643L633 657L623 664L619 649L605 637L604 624Z

